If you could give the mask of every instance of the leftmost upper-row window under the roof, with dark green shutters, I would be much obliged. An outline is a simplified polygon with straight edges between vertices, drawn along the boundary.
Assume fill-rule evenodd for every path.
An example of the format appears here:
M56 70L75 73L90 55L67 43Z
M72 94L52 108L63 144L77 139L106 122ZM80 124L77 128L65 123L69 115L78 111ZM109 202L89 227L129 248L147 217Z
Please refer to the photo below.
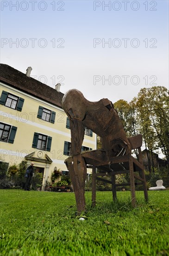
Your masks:
M8 108L13 108L18 111L22 111L24 99L16 95L10 94L8 92L2 91L2 94L0 97L0 104Z

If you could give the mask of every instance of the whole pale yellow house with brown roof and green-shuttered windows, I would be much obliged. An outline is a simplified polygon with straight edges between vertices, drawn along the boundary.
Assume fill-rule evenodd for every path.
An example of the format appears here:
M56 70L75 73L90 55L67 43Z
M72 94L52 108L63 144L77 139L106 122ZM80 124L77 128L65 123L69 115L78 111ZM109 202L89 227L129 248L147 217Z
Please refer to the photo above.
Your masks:
M8 65L0 64L0 70L0 158L9 165L34 162L44 189L55 168L67 171L71 136L64 94ZM82 150L95 149L96 141L85 128Z

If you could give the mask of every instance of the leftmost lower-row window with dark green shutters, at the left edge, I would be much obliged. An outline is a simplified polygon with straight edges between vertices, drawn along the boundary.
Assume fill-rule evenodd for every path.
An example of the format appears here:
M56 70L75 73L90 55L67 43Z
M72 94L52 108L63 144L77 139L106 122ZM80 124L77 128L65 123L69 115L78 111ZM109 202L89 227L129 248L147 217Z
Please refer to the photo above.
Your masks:
M17 127L0 123L0 141L13 143Z

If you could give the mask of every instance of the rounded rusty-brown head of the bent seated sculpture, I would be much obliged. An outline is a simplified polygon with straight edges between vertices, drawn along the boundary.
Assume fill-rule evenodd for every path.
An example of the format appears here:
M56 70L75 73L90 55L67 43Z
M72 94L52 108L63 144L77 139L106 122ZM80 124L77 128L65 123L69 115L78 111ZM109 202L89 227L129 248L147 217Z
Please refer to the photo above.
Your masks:
M85 117L87 102L80 91L72 89L64 94L62 107L71 119L82 121Z

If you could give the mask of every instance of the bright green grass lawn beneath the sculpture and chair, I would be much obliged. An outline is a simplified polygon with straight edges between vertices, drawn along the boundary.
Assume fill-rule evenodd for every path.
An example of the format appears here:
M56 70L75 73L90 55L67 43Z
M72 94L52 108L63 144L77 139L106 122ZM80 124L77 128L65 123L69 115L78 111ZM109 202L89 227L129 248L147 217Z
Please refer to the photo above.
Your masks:
M85 220L76 216L74 193L0 190L1 256L169 256L169 190L97 192Z

